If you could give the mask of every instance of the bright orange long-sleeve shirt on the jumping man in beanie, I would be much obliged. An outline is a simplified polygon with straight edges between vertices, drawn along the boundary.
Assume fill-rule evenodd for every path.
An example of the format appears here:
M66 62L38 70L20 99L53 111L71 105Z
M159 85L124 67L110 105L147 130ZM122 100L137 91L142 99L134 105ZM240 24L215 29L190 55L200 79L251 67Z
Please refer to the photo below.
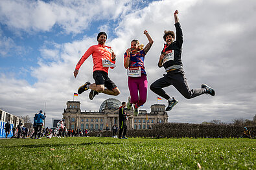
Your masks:
M115 64L115 61L112 61L111 59L111 52L106 50L103 45L93 45L88 48L88 50L84 53L84 56L80 58L76 65L76 70L79 70L81 65L86 61L89 56L93 56L93 71L96 70L102 70L106 73L108 73L108 67L103 67L102 65L102 59L108 59L111 63ZM114 67L110 67L111 69L114 69Z

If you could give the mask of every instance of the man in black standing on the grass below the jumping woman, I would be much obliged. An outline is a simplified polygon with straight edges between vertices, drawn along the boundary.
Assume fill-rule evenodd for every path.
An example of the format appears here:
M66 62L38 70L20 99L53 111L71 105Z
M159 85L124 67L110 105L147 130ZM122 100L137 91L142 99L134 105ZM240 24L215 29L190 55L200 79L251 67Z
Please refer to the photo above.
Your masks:
M127 130L126 120L128 120L128 116L130 116L130 114L127 114L124 111L124 107L126 107L126 102L122 102L122 106L119 107L119 139L128 139L125 136ZM124 133L122 134L122 132Z

